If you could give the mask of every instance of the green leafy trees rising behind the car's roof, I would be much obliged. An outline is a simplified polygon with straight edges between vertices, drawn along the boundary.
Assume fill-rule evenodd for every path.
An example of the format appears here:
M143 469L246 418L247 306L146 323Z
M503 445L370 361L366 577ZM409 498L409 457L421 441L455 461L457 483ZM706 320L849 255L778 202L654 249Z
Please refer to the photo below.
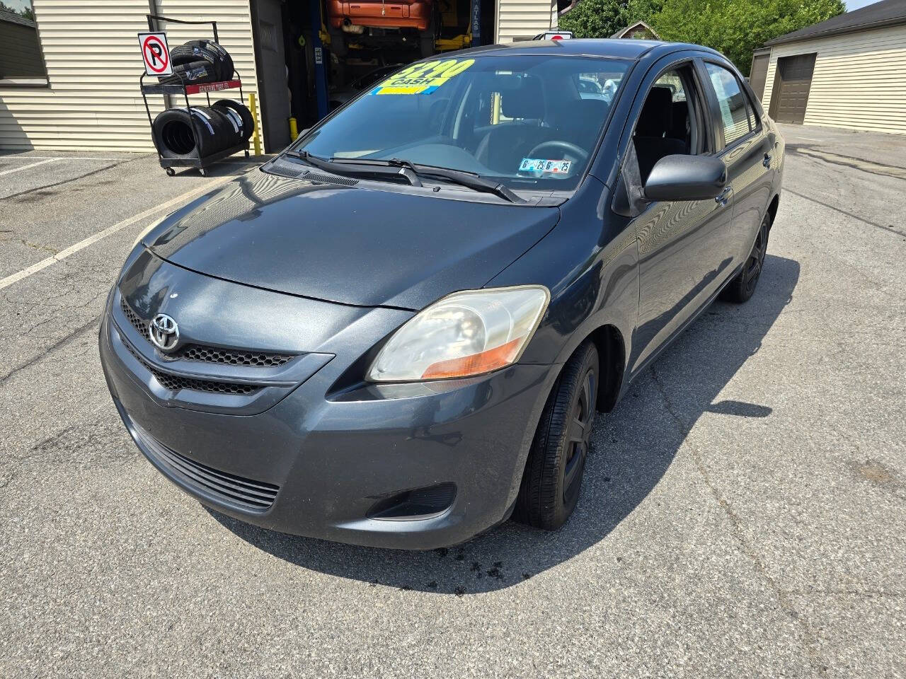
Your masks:
M663 40L713 47L747 74L752 50L845 9L843 0L581 0L560 27L578 38L607 38L645 21Z

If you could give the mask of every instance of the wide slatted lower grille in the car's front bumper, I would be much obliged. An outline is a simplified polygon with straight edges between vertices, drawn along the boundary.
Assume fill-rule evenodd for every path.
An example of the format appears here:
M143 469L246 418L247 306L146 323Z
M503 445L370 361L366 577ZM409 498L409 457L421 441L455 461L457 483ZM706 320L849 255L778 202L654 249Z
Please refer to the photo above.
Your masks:
M189 486L197 486L225 504L238 505L249 512L266 512L274 504L280 486L255 479L246 479L236 474L221 472L219 469L190 460L185 455L161 444L140 426L132 423L136 438L144 447L142 450L155 462Z

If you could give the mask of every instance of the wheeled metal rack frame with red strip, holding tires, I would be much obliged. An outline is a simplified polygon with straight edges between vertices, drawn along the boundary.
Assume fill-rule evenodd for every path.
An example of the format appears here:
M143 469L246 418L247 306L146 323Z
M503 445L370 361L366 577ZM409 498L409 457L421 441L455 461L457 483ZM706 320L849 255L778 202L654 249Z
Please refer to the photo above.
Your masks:
M148 17L148 28L149 31L155 30L155 21L166 22L170 24L210 24L214 33L214 42L218 43L217 39L217 22L216 21L183 21L181 19L170 19L166 16L159 16L157 14L147 14ZM142 73L139 78L139 86L141 89L141 99L145 102L145 112L148 114L148 123L151 127L151 141L154 142L154 148L157 149L158 159L160 161L160 167L163 167L167 171L169 177L176 175L176 167L195 167L198 169L199 174L202 177L207 177L207 167L213 165L218 160L222 160L227 156L232 156L239 151L245 151L246 158L248 158L248 140L243 139L240 143L235 146L224 148L223 150L217 151L216 153L209 154L207 156L200 155L198 139L199 139L199 130L198 125L200 124L197 120L197 116L192 115L192 106L189 103L188 95L190 94L205 94L207 97L208 107L211 105L211 92L225 91L225 90L239 90L239 101L240 103L245 103L244 95L242 93L242 78L239 76L239 73L236 69L233 69L233 77L228 81L217 81L217 82L203 82L203 83L187 83L183 80L182 76L179 75L180 84L169 84L162 85L159 82L145 84L146 73ZM164 158L163 154L160 152L158 147L158 140L154 135L154 120L151 119L151 110L148 106L148 96L149 94L161 94L164 97L165 108L170 108L168 95L178 95L181 94L183 99L186 101L186 110L188 110L188 118L191 122L189 126L192 130L192 139L195 141L195 150L183 158Z

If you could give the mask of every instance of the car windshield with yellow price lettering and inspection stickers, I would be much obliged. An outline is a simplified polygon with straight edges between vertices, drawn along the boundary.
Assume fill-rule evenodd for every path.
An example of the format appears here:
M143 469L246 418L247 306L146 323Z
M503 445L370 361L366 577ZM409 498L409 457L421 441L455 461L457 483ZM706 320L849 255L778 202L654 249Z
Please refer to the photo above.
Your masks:
M293 150L463 170L514 190L570 190L628 66L544 55L414 63L377 82Z

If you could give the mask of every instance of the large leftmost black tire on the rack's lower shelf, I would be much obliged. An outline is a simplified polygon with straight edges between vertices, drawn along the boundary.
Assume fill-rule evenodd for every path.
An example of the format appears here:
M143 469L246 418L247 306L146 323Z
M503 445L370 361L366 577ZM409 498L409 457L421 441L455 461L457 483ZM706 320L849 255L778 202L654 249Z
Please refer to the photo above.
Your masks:
M154 141L163 158L204 158L234 145L236 137L222 113L204 106L191 110L168 109L154 119Z

